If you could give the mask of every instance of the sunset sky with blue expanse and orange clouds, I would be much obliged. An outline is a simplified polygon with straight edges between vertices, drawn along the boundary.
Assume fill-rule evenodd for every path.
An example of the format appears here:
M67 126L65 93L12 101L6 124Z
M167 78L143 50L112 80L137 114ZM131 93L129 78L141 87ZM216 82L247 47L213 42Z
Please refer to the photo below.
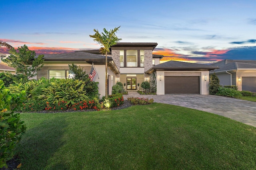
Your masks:
M93 30L121 26L120 42L158 43L161 63L256 59L256 0L9 0L0 11L0 41L37 55L99 49Z

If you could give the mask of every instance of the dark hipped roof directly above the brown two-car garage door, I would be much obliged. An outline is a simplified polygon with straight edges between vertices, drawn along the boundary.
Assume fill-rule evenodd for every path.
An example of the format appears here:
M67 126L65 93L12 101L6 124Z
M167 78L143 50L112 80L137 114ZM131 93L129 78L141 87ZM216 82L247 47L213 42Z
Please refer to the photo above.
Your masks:
M187 63L181 61L167 61L162 64L158 64L146 71L147 74L151 74L155 71L210 71L219 68L218 66Z

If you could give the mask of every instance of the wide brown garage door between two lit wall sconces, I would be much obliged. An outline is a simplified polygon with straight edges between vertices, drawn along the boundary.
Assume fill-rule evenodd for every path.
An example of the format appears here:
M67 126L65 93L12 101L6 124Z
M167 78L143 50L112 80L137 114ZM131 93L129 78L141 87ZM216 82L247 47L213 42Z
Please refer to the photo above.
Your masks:
M165 76L165 94L200 94L199 76Z

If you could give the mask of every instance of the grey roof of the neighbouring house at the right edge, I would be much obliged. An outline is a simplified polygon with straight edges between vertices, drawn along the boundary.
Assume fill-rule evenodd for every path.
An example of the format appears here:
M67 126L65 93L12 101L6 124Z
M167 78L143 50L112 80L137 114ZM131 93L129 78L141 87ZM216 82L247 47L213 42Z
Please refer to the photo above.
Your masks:
M226 72L238 69L256 69L255 60L222 60L212 65L219 66L220 68L212 70L211 72Z

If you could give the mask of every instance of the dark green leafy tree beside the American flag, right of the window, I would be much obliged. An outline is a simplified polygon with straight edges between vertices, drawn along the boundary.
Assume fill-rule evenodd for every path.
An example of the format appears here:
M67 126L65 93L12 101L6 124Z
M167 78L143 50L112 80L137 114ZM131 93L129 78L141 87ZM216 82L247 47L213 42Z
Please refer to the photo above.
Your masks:
M90 81L88 74L80 66L76 64L68 64L68 68L75 74L74 79L83 80L85 82L84 90L89 98L98 97L98 82Z

